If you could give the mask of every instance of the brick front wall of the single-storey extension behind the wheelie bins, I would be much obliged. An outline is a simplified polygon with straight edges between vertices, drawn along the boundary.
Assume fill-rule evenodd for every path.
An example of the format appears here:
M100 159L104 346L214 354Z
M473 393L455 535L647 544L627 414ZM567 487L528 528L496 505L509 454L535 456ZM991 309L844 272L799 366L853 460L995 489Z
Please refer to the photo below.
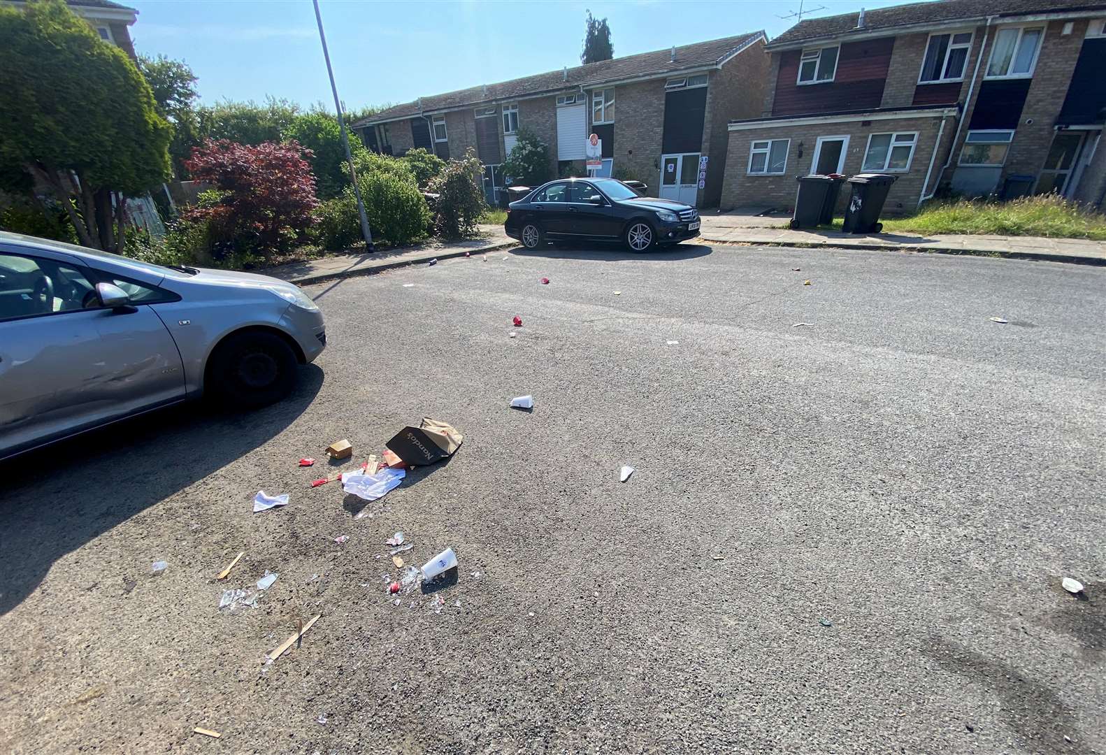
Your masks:
M918 143L915 147L910 170L896 174L898 180L891 186L884 206L885 214L901 214L912 211L921 196L922 181L929 168L929 158L933 151L933 143L941 119L899 118L894 120L873 120L870 126L862 126L863 122L808 124L801 126L782 126L775 128L753 128L730 132L728 165L722 187L723 210L742 205L773 205L778 208L793 208L795 203L795 179L811 172L814 160L814 148L820 136L848 135L848 149L845 156L845 175L854 176L862 172L864 153L868 146L870 134L889 132L918 132ZM952 118L948 119L942 140L950 138ZM754 140L791 139L787 151L786 174L783 176L749 176L749 147ZM800 144L803 156L799 157ZM936 168L935 168L936 169ZM842 187L837 202L837 211L844 212L849 193L848 185Z

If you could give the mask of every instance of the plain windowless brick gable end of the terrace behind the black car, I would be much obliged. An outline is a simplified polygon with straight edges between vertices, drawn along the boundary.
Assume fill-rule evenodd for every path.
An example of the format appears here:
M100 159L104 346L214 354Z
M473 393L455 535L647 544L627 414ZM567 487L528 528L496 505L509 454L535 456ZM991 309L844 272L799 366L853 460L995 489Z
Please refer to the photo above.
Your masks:
M722 198L722 178L726 175L727 144L730 120L755 118L769 88L771 60L764 53L764 43L740 52L719 71L710 74L707 92L707 118L703 126L702 154L707 161L707 188L699 192L699 207L718 207Z

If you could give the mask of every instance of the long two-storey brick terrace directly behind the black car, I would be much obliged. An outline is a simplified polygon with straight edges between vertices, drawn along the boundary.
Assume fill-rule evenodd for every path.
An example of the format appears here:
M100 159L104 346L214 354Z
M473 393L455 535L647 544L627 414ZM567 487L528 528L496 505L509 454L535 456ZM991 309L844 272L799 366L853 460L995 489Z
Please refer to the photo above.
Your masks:
M764 98L765 41L753 32L420 97L353 127L366 146L387 154L422 147L448 158L474 148L489 201L507 181L500 166L520 128L549 146L554 177L587 175L585 141L595 134L597 175L645 181L651 196L717 206L727 123L757 115Z

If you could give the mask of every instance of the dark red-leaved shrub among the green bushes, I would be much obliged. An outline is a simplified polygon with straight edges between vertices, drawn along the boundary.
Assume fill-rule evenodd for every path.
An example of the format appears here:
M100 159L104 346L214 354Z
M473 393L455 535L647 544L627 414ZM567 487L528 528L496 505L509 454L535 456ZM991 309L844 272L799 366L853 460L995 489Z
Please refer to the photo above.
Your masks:
M268 258L286 235L303 232L319 206L310 158L311 150L295 141L205 141L186 165L220 196L189 210L186 220L208 221L218 237Z

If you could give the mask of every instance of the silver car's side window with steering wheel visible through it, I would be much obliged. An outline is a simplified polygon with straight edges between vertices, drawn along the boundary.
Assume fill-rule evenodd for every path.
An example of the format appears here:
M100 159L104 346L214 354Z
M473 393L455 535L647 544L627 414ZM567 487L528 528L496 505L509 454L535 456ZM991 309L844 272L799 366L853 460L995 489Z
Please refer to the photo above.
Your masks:
M97 306L88 276L45 258L0 253L0 322Z

